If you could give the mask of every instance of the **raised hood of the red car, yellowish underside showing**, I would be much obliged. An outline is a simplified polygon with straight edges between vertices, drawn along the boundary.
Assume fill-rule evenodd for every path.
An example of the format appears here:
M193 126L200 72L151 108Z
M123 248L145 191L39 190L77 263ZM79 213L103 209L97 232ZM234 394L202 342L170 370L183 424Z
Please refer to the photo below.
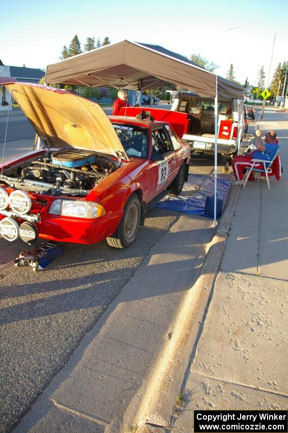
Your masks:
M86 149L128 159L112 123L95 102L35 84L5 87L50 147Z

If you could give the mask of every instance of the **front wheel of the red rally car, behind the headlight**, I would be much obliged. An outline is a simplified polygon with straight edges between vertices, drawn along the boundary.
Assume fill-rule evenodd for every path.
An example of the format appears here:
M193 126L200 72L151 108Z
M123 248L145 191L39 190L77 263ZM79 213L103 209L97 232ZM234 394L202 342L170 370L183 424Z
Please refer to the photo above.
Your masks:
M140 202L137 194L132 194L124 207L124 213L116 232L107 237L110 247L127 248L134 242L140 222Z

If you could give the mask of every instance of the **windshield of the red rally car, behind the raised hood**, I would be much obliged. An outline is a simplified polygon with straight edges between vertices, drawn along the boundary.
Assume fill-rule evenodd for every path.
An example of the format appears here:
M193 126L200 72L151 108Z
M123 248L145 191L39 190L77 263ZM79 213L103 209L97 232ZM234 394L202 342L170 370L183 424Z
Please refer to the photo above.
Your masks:
M147 158L147 129L135 125L113 123L117 136L127 154L138 158Z

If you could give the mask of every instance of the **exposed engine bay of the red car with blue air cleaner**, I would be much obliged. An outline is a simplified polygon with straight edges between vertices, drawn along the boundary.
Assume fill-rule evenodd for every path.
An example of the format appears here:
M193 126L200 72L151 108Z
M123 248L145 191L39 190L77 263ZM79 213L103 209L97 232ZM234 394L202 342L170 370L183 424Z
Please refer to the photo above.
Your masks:
M120 167L112 156L81 149L45 151L45 157L32 158L7 166L0 181L20 190L55 196L85 197L95 185Z

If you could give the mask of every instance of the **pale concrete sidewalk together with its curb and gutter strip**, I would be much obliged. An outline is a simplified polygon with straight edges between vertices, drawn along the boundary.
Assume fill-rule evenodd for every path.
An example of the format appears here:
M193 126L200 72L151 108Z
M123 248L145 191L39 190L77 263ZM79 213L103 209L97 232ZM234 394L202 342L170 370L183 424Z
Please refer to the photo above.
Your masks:
M269 116L282 180L234 186L215 236L180 217L15 432L192 433L195 409L286 409L288 121Z

